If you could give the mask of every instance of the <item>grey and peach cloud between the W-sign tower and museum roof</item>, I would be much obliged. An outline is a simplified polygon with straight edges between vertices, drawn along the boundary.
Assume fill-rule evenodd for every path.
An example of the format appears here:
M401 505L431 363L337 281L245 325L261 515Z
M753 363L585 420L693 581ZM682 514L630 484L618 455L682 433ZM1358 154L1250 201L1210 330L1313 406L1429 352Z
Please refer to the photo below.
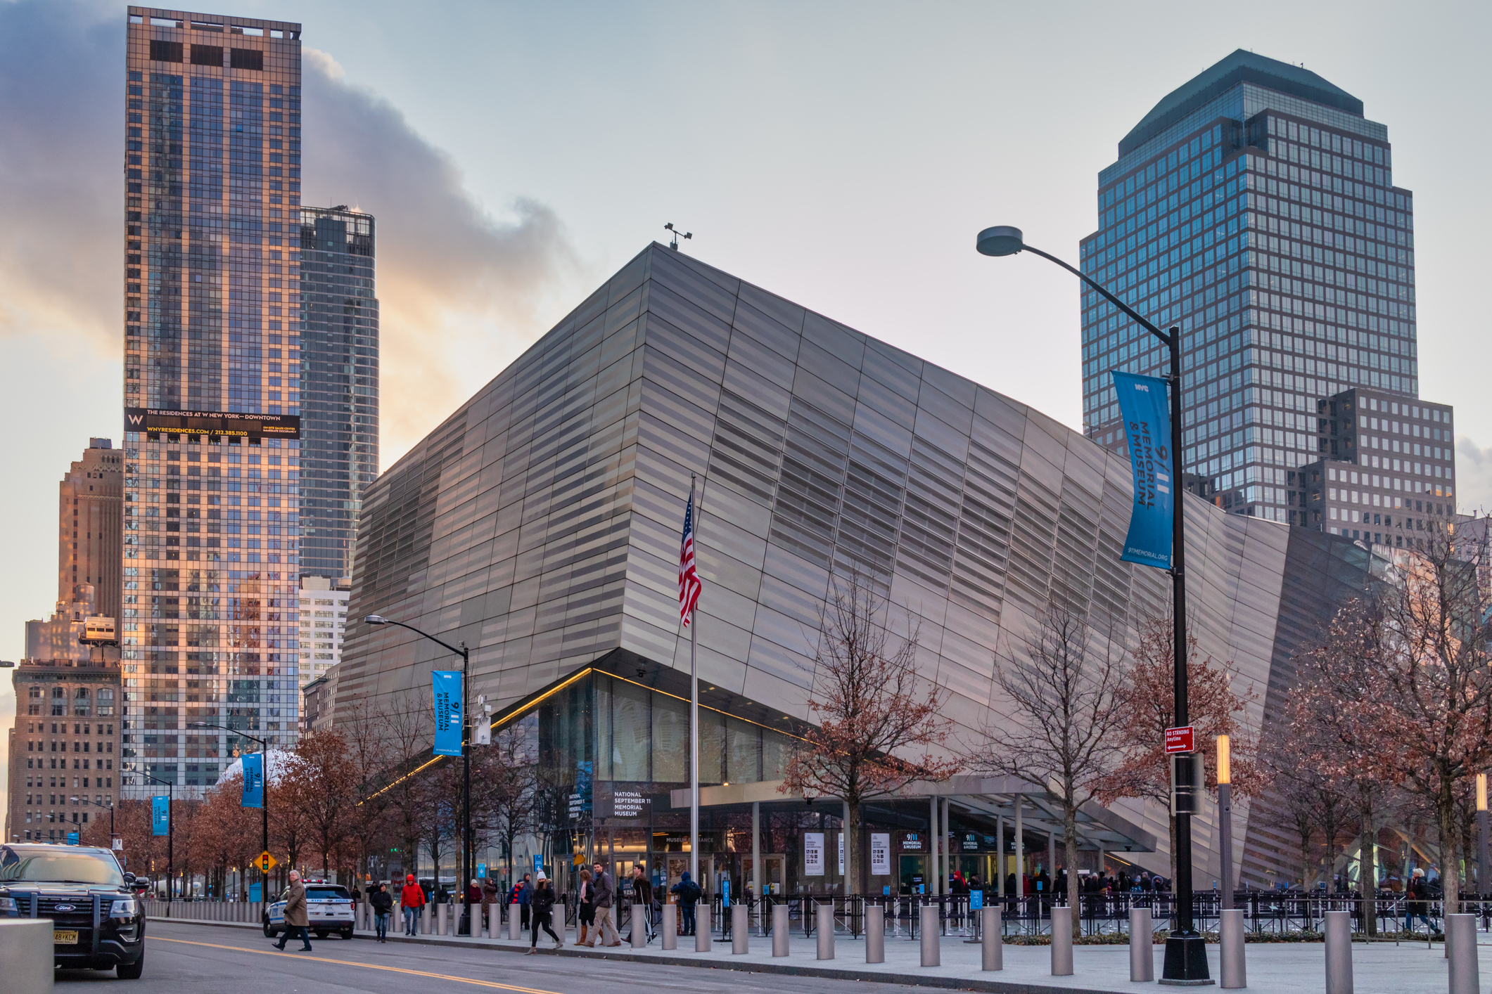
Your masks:
M382 465L518 356L577 271L545 204L497 218L404 115L306 49L301 203L376 219Z

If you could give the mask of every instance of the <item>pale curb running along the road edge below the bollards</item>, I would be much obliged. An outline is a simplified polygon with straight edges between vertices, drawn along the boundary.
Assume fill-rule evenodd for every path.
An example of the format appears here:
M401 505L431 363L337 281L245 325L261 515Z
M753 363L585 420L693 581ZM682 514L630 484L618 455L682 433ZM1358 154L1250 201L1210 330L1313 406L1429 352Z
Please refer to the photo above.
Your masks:
M210 925L218 928L252 928L254 931L263 931L263 927L254 922L245 921L192 921L186 918L155 918L151 917L148 921L169 921L178 925ZM354 933L354 939L373 939L370 933ZM330 939L327 939L330 942ZM471 940L471 939L424 939L410 936L389 936L388 942L403 942L409 945L421 946L454 946L457 949L494 949L498 952L513 952L518 954L519 949L528 949L528 946L513 946L512 940ZM879 982L879 984L898 984L901 987L935 987L943 990L955 991L988 991L989 994L1113 994L1113 991L1103 991L1097 988L1086 987L1056 987L1053 984L1022 984L1012 981L985 981L979 978L962 978L962 976L922 976L918 973L876 973L868 970L850 970L837 967L818 967L818 966L789 966L786 963L743 963L733 960L715 960L715 958L695 958L695 957L674 957L674 955L639 955L636 952L588 952L583 949L545 949L539 948L539 955L548 957L573 957L577 960L610 960L613 963L653 963L659 966L686 966L706 970L737 970L742 973L774 973L777 976L812 976L822 978L827 981L864 981L864 982ZM709 955L709 954L706 954Z

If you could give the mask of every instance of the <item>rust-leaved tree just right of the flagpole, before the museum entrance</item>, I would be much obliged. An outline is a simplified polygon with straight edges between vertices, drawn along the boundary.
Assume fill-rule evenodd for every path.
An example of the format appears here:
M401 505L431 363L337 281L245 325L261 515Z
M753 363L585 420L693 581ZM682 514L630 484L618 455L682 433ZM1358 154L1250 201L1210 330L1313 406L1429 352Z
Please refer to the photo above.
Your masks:
M783 793L839 797L844 826L844 884L864 891L861 806L915 781L941 781L959 763L937 751L947 739L943 688L916 669L918 633L892 639L885 602L858 574L819 612L809 717L782 779Z

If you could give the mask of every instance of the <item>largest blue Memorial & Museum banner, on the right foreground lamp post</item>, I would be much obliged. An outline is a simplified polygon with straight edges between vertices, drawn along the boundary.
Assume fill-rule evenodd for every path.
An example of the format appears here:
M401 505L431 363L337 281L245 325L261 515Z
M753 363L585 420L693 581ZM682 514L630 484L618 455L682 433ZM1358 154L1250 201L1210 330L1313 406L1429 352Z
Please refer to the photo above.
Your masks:
M1125 440L1129 443L1129 466L1134 469L1134 507L1119 559L1170 569L1176 487L1171 478L1171 417L1165 380L1118 370L1113 377Z

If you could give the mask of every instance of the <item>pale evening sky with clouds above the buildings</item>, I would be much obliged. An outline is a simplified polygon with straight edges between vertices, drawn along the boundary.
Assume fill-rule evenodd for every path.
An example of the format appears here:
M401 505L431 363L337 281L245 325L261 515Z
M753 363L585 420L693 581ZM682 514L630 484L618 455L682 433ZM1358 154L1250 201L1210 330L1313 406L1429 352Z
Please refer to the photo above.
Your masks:
M377 218L382 462L642 250L682 250L1071 426L1098 170L1246 48L1388 127L1414 192L1420 396L1492 507L1486 3L385 3L304 25L303 201ZM52 608L57 483L121 440L125 4L0 0L0 659ZM1477 234L1483 232L1483 234ZM4 723L9 681L0 690Z

